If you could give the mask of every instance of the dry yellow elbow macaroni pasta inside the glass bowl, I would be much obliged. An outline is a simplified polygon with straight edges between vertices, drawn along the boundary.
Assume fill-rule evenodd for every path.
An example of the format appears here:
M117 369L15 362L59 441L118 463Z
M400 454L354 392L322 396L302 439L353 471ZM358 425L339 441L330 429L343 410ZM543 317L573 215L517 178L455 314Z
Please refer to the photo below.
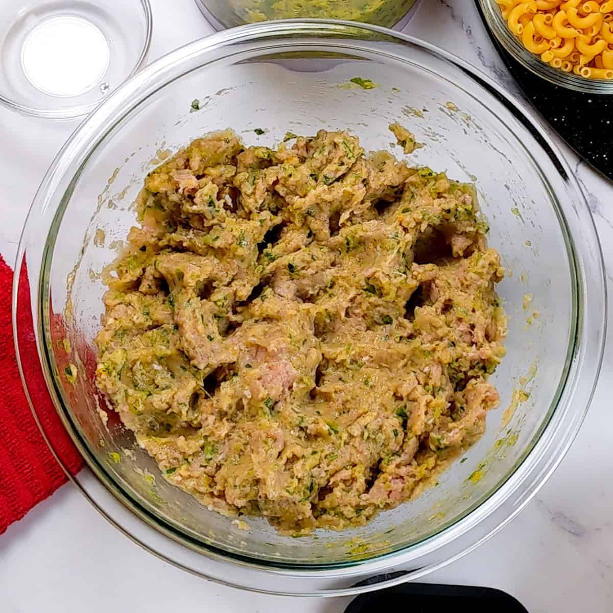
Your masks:
M509 29L554 68L613 79L613 0L495 0Z

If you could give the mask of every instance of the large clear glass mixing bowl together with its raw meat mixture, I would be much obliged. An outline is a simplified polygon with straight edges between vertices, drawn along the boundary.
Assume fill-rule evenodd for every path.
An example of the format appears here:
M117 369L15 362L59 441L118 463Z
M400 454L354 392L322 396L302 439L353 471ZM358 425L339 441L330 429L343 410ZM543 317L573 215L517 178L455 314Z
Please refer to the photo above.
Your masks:
M565 162L493 83L373 26L263 23L145 69L59 154L20 262L77 484L254 590L470 550L560 461L600 367Z

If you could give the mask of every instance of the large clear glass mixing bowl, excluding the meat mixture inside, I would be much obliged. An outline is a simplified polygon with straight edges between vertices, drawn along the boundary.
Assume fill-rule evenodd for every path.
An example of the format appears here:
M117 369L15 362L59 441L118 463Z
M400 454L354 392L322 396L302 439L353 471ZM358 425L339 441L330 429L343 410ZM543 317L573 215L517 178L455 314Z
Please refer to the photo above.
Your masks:
M353 77L377 85L363 89ZM39 393L29 373L40 359L58 415L89 466L74 477L89 500L135 541L193 573L300 595L373 589L351 585L381 571L403 573L387 574L387 584L421 576L511 519L577 433L600 368L606 313L590 211L568 164L527 113L485 75L432 45L340 21L221 32L164 56L113 93L42 181L15 286L26 389ZM143 178L167 150L228 126L248 143L269 145L286 131L348 128L365 148L397 154L387 129L395 120L425 143L411 161L476 182L490 244L508 271L499 286L509 315L507 356L493 377L501 406L465 462L365 528L288 538L250 519L242 530L164 481L112 412L101 419L104 399L93 376L100 272L135 223L132 203ZM18 292L26 270L39 356L19 340L28 333L17 316L29 308L26 292ZM77 368L74 385L69 364Z

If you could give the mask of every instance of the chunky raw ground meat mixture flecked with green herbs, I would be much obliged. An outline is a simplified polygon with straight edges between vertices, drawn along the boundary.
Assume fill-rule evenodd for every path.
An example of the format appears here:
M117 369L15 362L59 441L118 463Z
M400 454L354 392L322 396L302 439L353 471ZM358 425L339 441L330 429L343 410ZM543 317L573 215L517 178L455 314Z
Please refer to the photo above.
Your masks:
M506 318L472 185L348 132L275 150L227 130L153 170L138 215L97 383L208 508L363 525L484 432Z

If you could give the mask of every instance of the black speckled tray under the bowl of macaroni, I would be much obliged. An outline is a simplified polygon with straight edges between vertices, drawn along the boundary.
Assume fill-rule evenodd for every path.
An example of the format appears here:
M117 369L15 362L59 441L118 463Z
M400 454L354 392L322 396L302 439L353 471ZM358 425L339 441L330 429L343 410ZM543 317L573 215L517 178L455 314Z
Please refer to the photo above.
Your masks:
M483 18L479 2L477 6ZM613 95L586 94L552 85L519 64L487 25L485 29L509 72L539 113L582 159L613 180Z

